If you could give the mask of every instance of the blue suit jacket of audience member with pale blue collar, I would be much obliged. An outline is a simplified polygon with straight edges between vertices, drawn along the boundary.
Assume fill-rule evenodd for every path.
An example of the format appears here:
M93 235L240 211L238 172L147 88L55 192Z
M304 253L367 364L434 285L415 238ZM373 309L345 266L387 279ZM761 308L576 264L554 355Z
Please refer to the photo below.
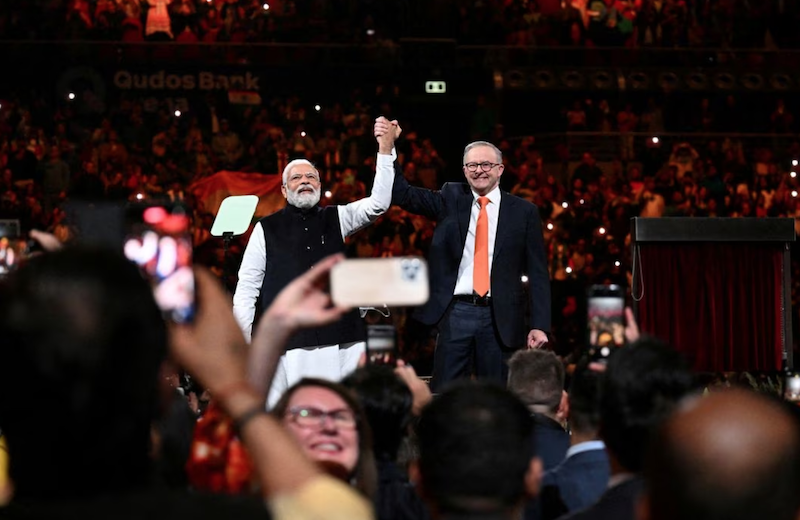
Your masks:
M541 502L545 520L591 506L608 486L610 468L603 449L577 453L547 471Z

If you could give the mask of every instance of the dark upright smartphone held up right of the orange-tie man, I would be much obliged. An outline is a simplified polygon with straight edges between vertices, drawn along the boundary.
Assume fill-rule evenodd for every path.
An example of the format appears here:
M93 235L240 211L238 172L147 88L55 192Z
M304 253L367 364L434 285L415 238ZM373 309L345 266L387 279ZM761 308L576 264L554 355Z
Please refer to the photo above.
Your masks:
M592 361L604 361L625 343L625 293L622 286L593 285L587 294L587 338Z

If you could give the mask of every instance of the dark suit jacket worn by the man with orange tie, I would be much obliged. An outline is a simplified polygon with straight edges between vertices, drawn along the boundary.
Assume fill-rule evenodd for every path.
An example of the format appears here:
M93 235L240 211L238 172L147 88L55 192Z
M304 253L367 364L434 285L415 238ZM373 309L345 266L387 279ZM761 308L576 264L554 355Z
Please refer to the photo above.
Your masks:
M447 183L440 191L431 191L409 185L402 173L395 170L392 204L436 221L428 255L431 297L415 313L422 323L438 323L453 299L473 202L466 183ZM528 276L527 328L523 274ZM523 348L530 329L550 330L550 276L539 210L504 191L490 276L492 311L505 347Z

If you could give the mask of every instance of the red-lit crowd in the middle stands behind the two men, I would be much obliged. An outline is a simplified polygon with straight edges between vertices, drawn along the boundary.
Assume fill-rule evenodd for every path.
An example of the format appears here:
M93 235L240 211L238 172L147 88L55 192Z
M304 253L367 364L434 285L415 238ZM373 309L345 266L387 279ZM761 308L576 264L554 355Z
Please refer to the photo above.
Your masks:
M166 103L128 98L101 117L86 118L69 101L54 106L44 99L20 94L0 108L0 218L67 238L74 233L64 211L70 199L182 200L194 211L196 260L227 274L229 287L247 237L234 241L224 257L209 233L214 216L192 194L191 184L226 169L277 175L290 159L306 157L318 165L329 192L323 204L356 200L369 192L374 174L372 120L378 114L393 117L403 103L398 88L380 86L357 89L319 111L309 100L289 96L261 106L210 100L204 109L177 116ZM736 97L715 101L699 101L703 109L696 117L705 126L698 130L738 128L730 122L737 112L728 109ZM564 117L573 130L618 133L597 149L569 138L551 147L535 136L506 136L502 125L472 125L474 139L493 141L505 154L501 186L540 208L551 277L567 287L556 284L553 302L554 343L563 353L583 341L580 320L574 319L580 314L579 288L612 281L630 286L631 217L800 217L800 187L792 173L800 143L790 137L778 145L735 135L680 140L654 140L647 132L626 135L644 128L659 135L665 116L656 102L638 112L579 100ZM782 102L770 120L776 131L790 129L793 121ZM406 178L434 189L460 178L460 157L445 160L420 122L403 124L398 163ZM427 220L392 208L352 239L350 253L424 256L432 231ZM793 279L796 296L800 276ZM392 319L407 331L402 336L407 357L429 359L432 343L425 331L406 327L402 310Z

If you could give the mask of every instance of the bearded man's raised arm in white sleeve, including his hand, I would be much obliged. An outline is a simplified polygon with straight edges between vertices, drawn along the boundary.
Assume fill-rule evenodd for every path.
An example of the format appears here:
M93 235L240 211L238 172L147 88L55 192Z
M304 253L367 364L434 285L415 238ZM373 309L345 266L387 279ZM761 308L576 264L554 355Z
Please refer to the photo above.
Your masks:
M393 132L387 132L378 141L378 158L375 161L375 182L369 197L339 206L339 225L342 238L347 237L372 223L379 216L386 213L392 203L392 182L394 172L394 142L400 136L402 129L396 126Z

